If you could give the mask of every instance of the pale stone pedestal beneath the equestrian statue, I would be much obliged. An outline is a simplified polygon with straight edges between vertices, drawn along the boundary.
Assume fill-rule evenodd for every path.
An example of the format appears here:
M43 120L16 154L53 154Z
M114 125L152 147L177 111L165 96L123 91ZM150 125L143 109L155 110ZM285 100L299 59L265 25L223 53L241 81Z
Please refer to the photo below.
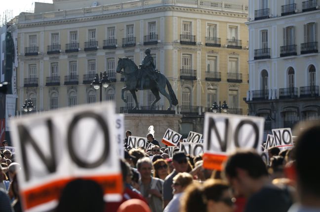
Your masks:
M130 130L132 136L147 137L148 128L153 125L155 135L154 138L161 142L165 131L170 128L175 132L179 132L179 124L182 115L177 114L137 114L124 113L124 130ZM124 133L124 132L123 132Z

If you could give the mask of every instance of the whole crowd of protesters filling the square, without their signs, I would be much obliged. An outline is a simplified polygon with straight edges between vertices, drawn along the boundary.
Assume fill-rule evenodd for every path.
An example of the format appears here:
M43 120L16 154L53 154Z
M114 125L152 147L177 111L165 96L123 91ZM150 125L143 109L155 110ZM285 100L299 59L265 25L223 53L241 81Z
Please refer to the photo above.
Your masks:
M292 149L268 149L264 161L254 150L229 155L223 169L203 168L201 155L160 147L131 148L130 131L120 159L120 202L104 202L102 188L87 179L63 189L55 212L320 212L320 122L305 124ZM317 139L318 138L318 139ZM0 212L20 212L16 173L20 165L1 149ZM318 167L318 168L317 168ZM19 175L19 174L17 174Z

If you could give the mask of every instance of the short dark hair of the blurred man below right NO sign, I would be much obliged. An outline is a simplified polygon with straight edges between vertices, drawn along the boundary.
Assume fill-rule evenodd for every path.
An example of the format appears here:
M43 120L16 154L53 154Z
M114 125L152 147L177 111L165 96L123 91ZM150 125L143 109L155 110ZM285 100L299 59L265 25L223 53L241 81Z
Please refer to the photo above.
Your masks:
M265 163L259 154L252 151L237 151L229 156L224 171L229 177L237 177L237 168L248 172L252 178L268 176Z

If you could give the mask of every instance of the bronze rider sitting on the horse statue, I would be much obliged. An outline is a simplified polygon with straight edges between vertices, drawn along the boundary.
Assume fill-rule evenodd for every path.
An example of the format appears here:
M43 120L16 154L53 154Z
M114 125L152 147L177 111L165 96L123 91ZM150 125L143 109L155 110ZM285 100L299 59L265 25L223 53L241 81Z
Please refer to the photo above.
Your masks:
M141 81L140 81L140 89L143 90L143 84L145 81L146 74L149 76L151 80L154 80L157 84L158 79L158 71L156 70L156 66L153 60L153 57L151 56L151 50L149 48L145 51L146 56L144 57L142 63L139 65L141 69ZM146 73L146 74L145 74Z

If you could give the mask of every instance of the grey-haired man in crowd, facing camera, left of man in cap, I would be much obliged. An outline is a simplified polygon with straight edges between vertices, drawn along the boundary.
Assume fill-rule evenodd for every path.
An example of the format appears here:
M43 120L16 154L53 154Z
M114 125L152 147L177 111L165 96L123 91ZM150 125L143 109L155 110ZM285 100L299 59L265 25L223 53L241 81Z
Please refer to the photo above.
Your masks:
M148 200L152 212L162 212L163 180L151 177L153 166L149 157L139 159L137 168L141 176L139 186L142 196Z

